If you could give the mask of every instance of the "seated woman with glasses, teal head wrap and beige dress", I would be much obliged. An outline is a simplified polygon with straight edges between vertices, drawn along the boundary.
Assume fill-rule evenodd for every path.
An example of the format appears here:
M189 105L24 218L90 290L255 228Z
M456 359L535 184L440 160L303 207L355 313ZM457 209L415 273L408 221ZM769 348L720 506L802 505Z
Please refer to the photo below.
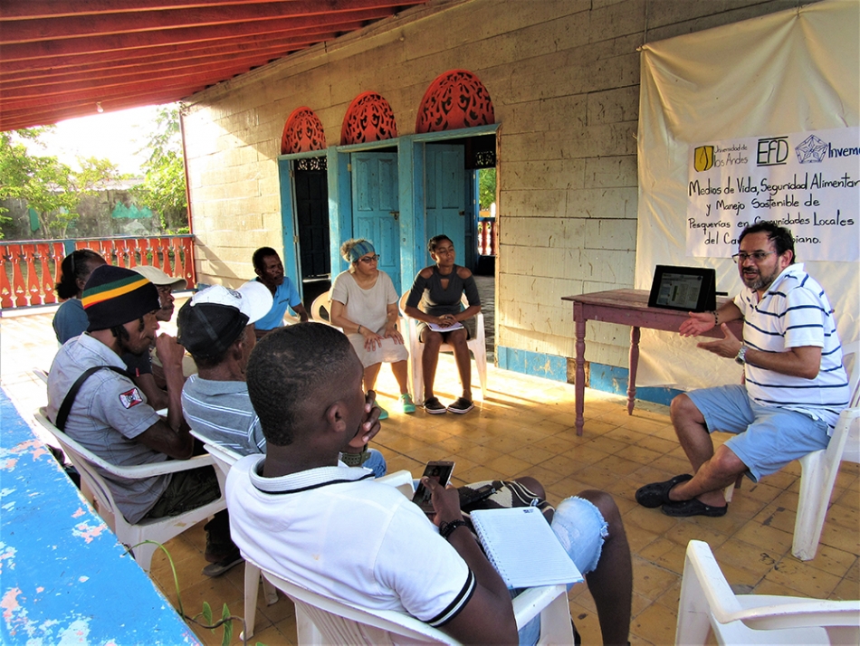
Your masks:
M394 283L378 269L379 256L372 242L363 238L348 240L340 246L340 255L349 262L349 270L340 273L331 287L331 324L341 328L355 348L364 366L365 390L373 390L379 368L389 363L400 386L400 411L415 413L415 403L406 388L409 353L397 329ZM383 410L379 419L387 416Z

